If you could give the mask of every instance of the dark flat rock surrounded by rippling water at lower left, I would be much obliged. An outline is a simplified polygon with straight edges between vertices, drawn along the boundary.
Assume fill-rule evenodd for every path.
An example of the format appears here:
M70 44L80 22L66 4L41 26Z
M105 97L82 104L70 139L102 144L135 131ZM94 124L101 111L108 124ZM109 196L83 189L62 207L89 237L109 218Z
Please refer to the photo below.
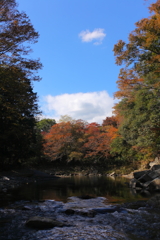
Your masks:
M35 229L49 229L63 227L64 224L51 218L35 216L26 222L26 226Z

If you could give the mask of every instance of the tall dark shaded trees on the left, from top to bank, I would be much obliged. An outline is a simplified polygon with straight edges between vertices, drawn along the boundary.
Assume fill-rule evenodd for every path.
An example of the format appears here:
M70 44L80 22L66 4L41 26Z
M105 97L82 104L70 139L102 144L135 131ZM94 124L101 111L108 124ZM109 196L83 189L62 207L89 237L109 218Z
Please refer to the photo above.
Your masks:
M27 43L38 33L15 0L0 1L0 156L1 166L35 157L35 116L39 114L32 81L39 80L38 60L31 60Z

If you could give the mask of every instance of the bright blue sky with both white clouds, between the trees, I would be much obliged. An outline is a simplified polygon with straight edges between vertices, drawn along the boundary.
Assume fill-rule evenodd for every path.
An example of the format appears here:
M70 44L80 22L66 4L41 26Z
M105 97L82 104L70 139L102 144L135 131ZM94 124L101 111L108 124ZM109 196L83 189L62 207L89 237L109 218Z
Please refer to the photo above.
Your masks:
M127 41L153 0L17 0L40 38L42 80L34 83L43 117L61 115L102 123L111 116L120 67L114 44Z

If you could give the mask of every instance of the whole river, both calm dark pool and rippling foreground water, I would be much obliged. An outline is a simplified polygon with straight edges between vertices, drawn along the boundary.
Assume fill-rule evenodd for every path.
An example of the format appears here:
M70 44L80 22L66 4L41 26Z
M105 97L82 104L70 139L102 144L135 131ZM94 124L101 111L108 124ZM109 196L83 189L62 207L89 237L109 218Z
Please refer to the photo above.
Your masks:
M10 205L0 208L1 240L160 239L159 210L145 204L138 209L121 205L148 199L145 193L131 190L124 178L35 180L14 190L13 197ZM33 218L56 220L62 227L28 227Z

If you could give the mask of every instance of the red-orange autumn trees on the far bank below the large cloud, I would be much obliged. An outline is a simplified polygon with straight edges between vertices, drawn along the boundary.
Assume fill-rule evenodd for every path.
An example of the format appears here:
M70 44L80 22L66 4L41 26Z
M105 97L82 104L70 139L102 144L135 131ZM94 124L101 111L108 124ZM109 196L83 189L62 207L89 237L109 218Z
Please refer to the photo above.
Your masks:
M109 164L110 145L117 136L117 120L107 117L102 125L83 120L54 124L44 136L44 154L50 161Z

